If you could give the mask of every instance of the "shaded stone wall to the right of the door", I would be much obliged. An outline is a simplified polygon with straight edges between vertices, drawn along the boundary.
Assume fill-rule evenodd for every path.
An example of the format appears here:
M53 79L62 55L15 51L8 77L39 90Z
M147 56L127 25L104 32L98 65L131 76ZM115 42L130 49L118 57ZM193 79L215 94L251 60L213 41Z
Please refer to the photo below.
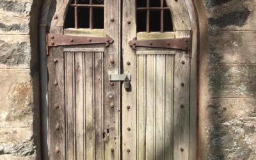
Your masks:
M256 159L256 1L202 3L199 157Z

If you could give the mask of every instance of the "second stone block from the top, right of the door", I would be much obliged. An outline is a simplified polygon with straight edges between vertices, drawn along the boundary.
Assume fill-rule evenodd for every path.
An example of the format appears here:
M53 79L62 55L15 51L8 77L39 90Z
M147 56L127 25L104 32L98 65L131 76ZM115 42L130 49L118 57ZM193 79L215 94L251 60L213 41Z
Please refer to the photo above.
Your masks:
M209 36L209 62L256 63L256 31L219 31Z

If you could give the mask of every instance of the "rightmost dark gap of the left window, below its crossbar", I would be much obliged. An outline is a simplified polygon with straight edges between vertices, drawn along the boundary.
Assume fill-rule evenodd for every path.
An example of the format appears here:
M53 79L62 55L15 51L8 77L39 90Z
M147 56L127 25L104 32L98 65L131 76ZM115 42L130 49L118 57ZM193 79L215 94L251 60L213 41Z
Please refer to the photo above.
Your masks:
M93 8L93 28L104 28L104 8Z

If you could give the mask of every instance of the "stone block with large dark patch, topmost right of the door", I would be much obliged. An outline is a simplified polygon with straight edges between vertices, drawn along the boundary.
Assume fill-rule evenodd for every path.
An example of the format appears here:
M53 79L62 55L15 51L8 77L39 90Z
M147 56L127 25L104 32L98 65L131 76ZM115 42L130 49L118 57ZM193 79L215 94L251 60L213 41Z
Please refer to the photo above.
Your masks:
M211 0L214 1L214 0ZM223 1L225 3L225 1ZM256 30L256 3L253 0L230 3L209 11L209 30Z

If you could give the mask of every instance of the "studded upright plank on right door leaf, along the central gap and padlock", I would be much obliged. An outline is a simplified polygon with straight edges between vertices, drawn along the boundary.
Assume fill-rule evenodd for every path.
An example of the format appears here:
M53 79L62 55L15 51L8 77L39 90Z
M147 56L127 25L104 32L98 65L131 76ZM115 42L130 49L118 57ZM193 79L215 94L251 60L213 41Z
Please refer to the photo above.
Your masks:
M122 125L123 132L123 159L137 159L138 150L137 146L137 111L138 106L137 102L137 60L136 52L129 46L128 42L132 38L136 37L136 1L135 0L124 0L122 7L122 47L123 47L123 66L124 73L128 72L132 75L131 80L131 90L128 92L123 88L122 90ZM129 23L129 21L131 23ZM129 65L130 64L130 65ZM127 109L127 106L131 106L130 109ZM131 127L131 131L127 131L127 127ZM141 133L139 133L141 135ZM141 143L141 141L140 141ZM127 152L130 150L130 152ZM143 152L143 148L140 150ZM141 155L141 154L140 154Z

